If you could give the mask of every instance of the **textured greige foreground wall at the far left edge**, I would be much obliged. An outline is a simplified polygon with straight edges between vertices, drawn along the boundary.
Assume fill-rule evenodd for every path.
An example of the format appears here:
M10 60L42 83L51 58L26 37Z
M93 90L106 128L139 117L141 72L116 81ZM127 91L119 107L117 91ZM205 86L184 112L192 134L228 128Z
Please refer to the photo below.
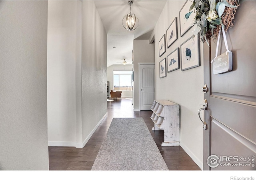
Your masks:
M48 170L47 1L0 2L0 170Z

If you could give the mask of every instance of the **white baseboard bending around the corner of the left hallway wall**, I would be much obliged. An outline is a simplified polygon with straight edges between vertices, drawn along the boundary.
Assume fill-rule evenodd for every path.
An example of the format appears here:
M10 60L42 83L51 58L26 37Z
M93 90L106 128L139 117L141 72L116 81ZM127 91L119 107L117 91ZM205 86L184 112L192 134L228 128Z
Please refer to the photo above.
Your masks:
M61 141L48 141L48 146L67 146L67 147L76 147L76 148L83 148L88 140L92 137L92 134L96 131L100 123L104 120L104 118L108 115L108 112L100 119L98 124L94 127L92 132L87 136L83 143L76 143L76 142L61 142Z

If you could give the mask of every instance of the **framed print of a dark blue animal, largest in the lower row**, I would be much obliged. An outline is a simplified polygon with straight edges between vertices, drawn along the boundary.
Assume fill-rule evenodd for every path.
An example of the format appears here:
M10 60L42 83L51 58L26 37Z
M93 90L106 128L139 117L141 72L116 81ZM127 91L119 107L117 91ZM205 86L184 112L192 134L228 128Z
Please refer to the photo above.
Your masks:
M200 66L199 35L191 36L180 45L181 70L188 70Z

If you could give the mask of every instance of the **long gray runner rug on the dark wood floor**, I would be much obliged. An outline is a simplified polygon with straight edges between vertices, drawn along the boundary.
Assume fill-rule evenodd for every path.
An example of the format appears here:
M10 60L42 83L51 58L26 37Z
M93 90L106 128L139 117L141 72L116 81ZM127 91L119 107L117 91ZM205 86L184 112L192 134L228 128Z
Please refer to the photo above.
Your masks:
M92 170L168 170L143 118L113 118Z

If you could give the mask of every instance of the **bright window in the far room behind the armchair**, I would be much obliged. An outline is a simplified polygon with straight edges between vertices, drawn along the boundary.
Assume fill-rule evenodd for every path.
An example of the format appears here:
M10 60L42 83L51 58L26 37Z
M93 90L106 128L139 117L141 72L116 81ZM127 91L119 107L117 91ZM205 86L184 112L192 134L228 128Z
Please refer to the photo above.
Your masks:
M132 71L113 71L114 90L132 91Z

